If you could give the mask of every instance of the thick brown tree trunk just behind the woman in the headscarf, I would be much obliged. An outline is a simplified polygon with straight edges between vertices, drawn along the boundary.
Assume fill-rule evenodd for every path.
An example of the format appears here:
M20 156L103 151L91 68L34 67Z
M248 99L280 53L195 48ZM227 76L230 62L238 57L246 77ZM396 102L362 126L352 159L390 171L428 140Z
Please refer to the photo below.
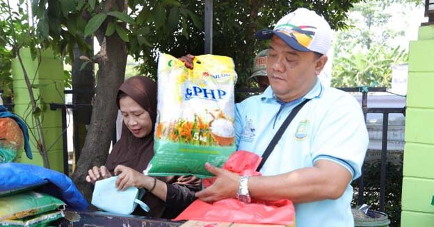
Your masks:
M77 169L72 175L72 180L88 201L92 197L93 186L86 182L86 175L91 167L103 165L109 155L118 112L115 99L118 87L124 81L127 65L127 47L117 34L106 37L98 63L97 89L90 127Z

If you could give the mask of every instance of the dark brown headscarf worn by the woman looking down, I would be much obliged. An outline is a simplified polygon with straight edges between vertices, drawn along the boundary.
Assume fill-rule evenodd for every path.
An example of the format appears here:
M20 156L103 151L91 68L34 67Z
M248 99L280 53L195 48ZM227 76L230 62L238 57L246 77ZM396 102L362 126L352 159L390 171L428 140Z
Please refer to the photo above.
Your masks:
M144 76L128 78L119 87L116 99L118 108L120 107L119 99L122 93L131 97L138 105L149 112L154 127L156 121L156 83ZM106 167L112 174L117 165L124 165L141 173L146 169L153 155L154 128L145 137L138 138L122 122L122 134L106 160Z

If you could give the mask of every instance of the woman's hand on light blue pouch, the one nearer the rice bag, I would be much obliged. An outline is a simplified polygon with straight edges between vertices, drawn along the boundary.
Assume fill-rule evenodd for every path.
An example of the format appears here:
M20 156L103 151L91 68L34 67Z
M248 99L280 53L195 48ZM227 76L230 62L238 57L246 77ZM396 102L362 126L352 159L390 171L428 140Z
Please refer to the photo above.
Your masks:
M124 165L118 165L115 167L115 175L118 176L116 187L121 191L126 190L131 186L149 189L148 187L152 187L154 184L154 178L145 176L144 174Z

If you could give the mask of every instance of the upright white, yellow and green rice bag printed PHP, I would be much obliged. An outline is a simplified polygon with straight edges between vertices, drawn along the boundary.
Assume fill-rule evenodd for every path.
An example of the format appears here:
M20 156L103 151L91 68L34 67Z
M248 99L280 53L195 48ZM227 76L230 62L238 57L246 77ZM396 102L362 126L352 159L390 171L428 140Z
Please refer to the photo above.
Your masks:
M158 104L151 176L212 176L204 163L222 167L236 150L232 58L195 56L193 69L159 56Z

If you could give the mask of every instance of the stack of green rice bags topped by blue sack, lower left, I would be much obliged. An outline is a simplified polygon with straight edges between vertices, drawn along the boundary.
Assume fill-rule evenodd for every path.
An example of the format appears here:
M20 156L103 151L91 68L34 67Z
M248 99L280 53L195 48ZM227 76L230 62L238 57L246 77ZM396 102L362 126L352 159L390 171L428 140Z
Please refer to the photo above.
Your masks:
M88 208L72 180L58 171L1 163L0 179L0 226L47 226L63 217L65 205Z

